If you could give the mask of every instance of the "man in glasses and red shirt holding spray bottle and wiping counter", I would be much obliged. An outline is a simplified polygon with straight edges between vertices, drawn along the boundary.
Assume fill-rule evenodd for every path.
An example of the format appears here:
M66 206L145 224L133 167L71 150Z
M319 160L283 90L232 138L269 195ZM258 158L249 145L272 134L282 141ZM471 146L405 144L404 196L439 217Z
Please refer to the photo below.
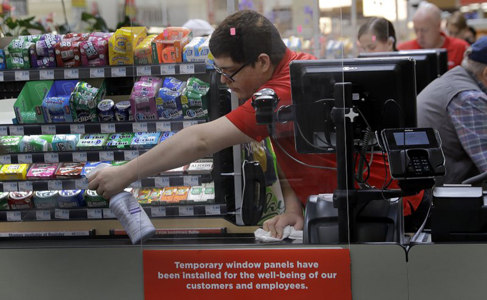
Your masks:
M222 83L227 84L238 99L246 102L226 116L185 128L138 159L101 170L88 178L90 189L109 198L138 178L188 164L233 145L262 141L269 134L266 126L256 123L252 95L261 89L271 88L281 98L279 105L291 104L289 63L315 59L287 49L273 24L254 11L239 11L227 17L213 33L210 50ZM275 124L275 132L279 144L296 159L310 165L335 167L335 155L297 153L291 123ZM336 172L303 166L286 155L274 139L271 141L280 165L278 170L286 211L264 223L264 229L280 237L287 225L302 229L302 208L307 197L333 193ZM381 158L374 159L368 182L381 187L384 173L384 162ZM417 204L413 208L415 206ZM408 208L409 205L406 206Z

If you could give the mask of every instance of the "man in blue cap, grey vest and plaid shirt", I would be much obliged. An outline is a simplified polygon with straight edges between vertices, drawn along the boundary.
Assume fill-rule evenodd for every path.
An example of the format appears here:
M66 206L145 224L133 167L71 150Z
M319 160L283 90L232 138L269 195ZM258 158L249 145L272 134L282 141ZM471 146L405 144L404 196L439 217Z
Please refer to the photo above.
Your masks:
M440 133L446 176L461 183L487 172L487 37L478 39L457 66L418 95L418 126Z

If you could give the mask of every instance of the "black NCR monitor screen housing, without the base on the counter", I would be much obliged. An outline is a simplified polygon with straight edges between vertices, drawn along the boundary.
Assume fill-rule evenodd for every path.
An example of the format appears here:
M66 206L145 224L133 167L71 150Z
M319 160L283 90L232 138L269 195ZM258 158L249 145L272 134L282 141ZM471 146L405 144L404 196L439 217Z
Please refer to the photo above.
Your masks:
M362 58L343 60L303 60L290 64L296 151L334 152L334 125L329 113L337 82L353 84L353 102L363 117L356 118L354 138L365 130L364 118L372 132L384 128L416 127L416 85L414 61L410 58ZM330 105L311 105L321 100ZM388 100L394 101L388 101ZM311 146L314 144L317 147ZM328 151L323 150L327 148Z

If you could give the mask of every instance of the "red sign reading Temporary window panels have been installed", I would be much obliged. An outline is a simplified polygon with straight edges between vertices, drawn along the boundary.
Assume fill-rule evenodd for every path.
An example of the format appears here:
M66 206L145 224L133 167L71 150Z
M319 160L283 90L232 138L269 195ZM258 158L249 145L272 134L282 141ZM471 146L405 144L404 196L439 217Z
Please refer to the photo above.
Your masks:
M335 248L144 250L144 292L145 300L351 300L350 252Z

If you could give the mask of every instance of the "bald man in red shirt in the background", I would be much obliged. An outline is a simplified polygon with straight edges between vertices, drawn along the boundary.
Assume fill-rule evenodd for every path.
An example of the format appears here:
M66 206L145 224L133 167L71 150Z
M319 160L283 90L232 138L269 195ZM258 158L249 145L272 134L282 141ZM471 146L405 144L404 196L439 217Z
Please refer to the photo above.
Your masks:
M431 3L420 5L413 16L416 39L402 42L399 50L445 48L448 51L448 69L459 66L468 42L441 32L441 11Z

